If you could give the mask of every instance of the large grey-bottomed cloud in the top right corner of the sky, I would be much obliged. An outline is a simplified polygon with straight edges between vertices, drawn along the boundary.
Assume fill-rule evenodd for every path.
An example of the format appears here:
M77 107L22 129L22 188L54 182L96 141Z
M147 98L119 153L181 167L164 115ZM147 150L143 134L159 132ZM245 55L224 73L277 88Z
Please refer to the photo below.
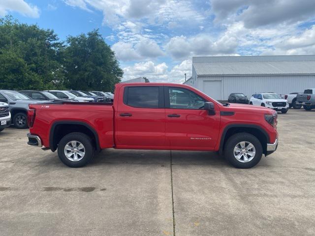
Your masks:
M248 29L295 24L314 17L314 0L211 0L217 23L244 22Z

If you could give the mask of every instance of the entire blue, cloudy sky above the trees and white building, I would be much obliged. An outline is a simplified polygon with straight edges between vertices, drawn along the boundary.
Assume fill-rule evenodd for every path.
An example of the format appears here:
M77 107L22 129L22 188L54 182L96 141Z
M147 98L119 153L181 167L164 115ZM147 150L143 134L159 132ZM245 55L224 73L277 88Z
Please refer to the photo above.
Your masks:
M193 56L315 54L315 0L0 0L7 14L61 40L99 29L123 80L183 83Z

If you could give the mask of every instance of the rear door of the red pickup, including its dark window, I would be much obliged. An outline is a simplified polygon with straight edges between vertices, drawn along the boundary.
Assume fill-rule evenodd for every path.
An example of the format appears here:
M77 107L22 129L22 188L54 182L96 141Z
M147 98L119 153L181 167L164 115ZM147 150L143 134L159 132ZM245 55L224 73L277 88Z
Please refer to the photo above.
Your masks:
M117 148L165 148L163 87L126 86L116 111Z

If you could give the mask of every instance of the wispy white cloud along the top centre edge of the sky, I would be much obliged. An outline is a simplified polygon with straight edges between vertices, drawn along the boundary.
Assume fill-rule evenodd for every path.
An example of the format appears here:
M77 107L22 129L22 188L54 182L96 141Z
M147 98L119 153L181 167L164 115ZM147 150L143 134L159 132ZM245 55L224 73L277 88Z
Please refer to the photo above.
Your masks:
M189 0L64 0L68 5L91 11L103 12L103 23L118 27L121 22L145 21L150 25L167 25L169 22L179 27L200 24L206 13L195 9Z

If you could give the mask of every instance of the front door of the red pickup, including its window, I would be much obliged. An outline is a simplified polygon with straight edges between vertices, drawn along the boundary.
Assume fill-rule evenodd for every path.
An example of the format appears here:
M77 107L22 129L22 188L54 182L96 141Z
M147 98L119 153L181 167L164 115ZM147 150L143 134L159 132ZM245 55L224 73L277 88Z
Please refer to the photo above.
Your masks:
M205 98L189 89L164 88L166 145L171 149L213 149L220 129L219 108L215 108L216 115L208 115L203 109Z

